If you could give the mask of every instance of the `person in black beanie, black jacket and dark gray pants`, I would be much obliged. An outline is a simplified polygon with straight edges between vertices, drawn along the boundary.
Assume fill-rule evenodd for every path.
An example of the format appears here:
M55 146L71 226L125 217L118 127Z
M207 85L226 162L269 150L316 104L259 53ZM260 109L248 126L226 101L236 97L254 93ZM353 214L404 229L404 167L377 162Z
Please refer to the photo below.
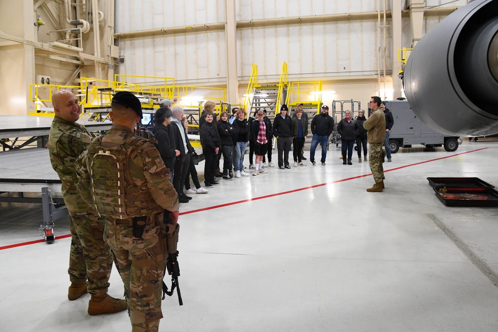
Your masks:
M289 151L292 144L292 120L287 114L289 109L283 104L280 113L273 120L273 136L277 139L278 167L280 169L290 168ZM283 157L282 157L283 155Z

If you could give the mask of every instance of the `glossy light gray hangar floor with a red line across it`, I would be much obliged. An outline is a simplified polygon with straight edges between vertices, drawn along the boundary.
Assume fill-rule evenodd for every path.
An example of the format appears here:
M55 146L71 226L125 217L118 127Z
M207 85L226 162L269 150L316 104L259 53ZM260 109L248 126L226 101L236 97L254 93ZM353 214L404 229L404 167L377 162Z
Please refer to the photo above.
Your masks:
M400 149L384 192L368 193L368 163L342 165L331 146L326 166L267 168L194 195L180 206L184 305L163 301L160 331L498 331L498 209L447 207L426 179L498 186L497 148ZM40 206L1 204L1 331L130 330L125 313L88 316L89 295L68 301L69 238L11 246L40 239ZM68 228L56 222L56 235ZM123 294L116 269L109 292Z

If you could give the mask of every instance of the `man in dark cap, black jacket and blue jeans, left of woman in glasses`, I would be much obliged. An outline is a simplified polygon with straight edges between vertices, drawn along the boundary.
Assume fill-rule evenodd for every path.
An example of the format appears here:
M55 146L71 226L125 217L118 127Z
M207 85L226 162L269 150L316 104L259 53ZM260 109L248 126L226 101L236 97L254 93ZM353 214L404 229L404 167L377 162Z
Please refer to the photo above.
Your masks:
M322 111L311 120L311 139L310 148L310 162L314 166L315 163L315 150L318 143L322 146L322 166L325 166L325 158L327 158L327 144L329 143L329 136L334 131L334 119L329 115L329 107L322 106Z

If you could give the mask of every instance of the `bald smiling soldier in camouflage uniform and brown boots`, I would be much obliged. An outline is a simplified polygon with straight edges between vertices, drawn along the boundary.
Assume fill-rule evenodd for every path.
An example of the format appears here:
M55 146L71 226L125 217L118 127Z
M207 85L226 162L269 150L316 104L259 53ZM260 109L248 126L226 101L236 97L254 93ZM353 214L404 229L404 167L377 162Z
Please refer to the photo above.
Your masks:
M81 108L74 94L66 90L56 91L52 95L52 104L55 117L48 149L52 167L62 181L62 196L69 211L71 230L68 299L76 300L88 291L92 295L88 305L90 315L123 311L126 302L107 294L113 256L104 241L104 221L81 199L76 189L78 178L73 164L95 135L76 123Z

